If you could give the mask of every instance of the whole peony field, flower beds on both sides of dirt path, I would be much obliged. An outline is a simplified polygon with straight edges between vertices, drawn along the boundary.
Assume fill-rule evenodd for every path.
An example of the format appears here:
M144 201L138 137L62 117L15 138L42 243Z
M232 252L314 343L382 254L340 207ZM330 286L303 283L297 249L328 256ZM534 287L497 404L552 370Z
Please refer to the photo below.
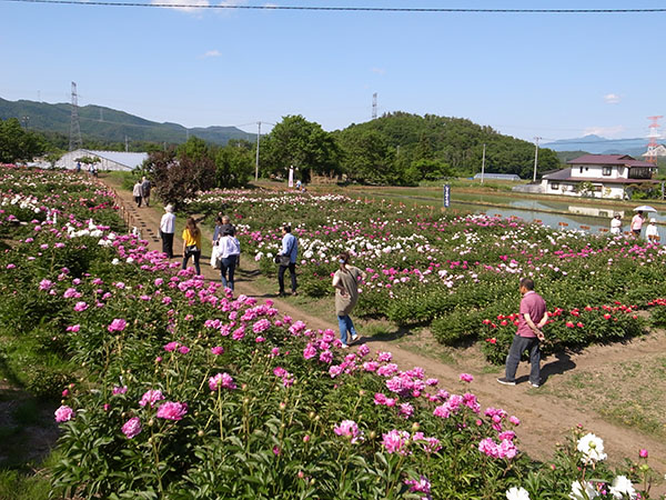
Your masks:
M521 416L484 408L471 374L444 382L390 352L344 351L271 300L181 271L127 233L94 179L3 166L0 197L2 334L68 368L26 376L54 398L53 498L649 498L648 450L615 468L576 428L533 461ZM234 191L189 207L221 204L265 272L291 222L303 290L327 293L332 258L351 248L369 269L360 311L442 341L450 326L502 349L523 273L553 309L553 348L639 334L636 309L663 296L663 252L634 241L341 196Z

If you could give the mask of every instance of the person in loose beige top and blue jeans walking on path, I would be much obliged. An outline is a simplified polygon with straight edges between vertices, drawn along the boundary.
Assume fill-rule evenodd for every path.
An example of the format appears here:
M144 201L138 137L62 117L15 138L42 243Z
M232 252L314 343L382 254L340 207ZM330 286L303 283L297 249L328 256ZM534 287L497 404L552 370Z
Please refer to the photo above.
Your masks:
M359 333L354 328L354 322L350 313L359 301L359 277L365 279L365 272L350 264L350 253L341 252L337 256L340 269L333 274L333 288L335 288L335 314L337 314L337 324L340 326L340 340L342 348L346 349L351 342L347 341L347 333L352 337L352 342L356 341Z

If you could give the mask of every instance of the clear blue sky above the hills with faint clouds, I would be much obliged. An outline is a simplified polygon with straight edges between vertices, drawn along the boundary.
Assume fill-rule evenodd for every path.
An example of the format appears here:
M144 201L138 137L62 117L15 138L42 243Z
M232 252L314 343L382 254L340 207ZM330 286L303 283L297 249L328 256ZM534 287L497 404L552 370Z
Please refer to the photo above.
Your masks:
M140 0L150 1L150 0ZM160 1L160 0L155 0ZM264 0L161 0L260 6ZM663 8L655 0L270 0L278 6ZM302 114L336 130L377 110L511 136L645 137L666 116L665 13L180 10L0 0L0 97L121 109L185 127ZM666 119L662 120L665 124ZM269 131L264 124L262 132Z

